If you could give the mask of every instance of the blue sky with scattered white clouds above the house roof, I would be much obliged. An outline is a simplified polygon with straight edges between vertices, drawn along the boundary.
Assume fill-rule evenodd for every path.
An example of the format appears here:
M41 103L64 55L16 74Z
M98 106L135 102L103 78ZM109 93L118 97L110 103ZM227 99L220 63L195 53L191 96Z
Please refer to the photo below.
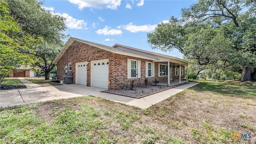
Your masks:
M195 0L45 0L44 6L66 17L66 34L108 46L122 44L182 58L178 50L152 50L146 34Z

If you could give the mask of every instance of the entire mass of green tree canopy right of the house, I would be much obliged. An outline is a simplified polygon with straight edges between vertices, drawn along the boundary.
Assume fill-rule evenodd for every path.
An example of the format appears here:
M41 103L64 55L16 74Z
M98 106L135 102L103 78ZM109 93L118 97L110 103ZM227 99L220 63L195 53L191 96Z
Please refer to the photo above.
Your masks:
M199 0L148 33L152 48L177 48L199 65L232 68L256 80L256 13L253 0Z

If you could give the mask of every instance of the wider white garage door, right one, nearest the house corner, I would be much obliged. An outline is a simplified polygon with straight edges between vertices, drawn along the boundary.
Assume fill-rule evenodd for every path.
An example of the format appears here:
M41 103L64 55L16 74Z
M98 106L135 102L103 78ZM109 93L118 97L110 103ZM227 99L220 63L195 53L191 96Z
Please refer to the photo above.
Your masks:
M92 61L92 86L108 88L108 59Z

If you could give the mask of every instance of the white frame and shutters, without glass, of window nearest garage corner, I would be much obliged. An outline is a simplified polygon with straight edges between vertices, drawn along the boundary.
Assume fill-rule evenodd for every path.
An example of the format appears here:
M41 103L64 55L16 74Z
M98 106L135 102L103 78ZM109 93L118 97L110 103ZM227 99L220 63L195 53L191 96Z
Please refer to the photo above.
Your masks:
M136 68L132 68L132 61L136 61ZM140 60L127 59L127 78L140 78L140 70L141 70ZM136 70L136 76L132 77L132 69Z

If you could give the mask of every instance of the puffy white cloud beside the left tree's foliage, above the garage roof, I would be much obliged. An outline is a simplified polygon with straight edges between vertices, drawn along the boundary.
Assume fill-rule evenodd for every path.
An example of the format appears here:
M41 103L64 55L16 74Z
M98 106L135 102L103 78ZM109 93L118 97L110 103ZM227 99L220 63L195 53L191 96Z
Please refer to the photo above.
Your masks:
M55 13L57 15L63 16L66 18L66 26L70 29L87 29L86 25L87 23L84 20L77 20L76 18L73 18L72 16L69 16L66 13L60 14Z

